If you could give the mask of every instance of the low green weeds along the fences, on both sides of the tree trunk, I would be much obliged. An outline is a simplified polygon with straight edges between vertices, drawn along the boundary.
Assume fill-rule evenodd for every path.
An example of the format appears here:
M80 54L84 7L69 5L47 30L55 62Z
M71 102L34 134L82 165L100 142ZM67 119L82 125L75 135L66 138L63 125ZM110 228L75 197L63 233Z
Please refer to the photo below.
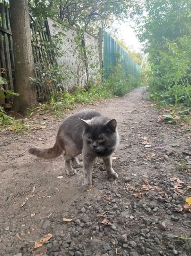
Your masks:
M55 76L56 79L56 76ZM100 80L91 81L91 86L87 89L85 87L72 87L67 91L53 91L47 103L41 104L36 109L28 109L27 120L15 120L8 116L3 108L0 108L0 130L7 129L13 132L25 134L30 130L36 128L33 121L33 115L36 110L49 110L51 114L56 117L64 117L63 111L72 109L76 104L93 104L101 99L112 98L115 96L123 96L131 89L140 86L140 78L133 78L123 71L122 65L113 67L111 75L106 82Z

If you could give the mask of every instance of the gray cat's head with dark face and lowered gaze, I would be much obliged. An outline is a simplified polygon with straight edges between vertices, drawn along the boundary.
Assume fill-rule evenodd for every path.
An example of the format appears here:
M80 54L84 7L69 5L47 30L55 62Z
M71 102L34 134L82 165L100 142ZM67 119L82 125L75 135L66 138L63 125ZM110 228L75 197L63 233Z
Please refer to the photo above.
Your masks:
M115 147L117 143L115 119L106 121L102 117L94 117L91 120L80 120L84 125L83 140L91 149L102 152L107 148Z

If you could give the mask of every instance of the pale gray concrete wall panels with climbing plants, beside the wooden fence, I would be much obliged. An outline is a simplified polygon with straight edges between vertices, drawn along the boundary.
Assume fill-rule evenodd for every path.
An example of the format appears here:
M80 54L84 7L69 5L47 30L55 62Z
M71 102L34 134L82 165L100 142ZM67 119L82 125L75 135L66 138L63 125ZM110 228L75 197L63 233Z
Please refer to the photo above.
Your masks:
M86 56L81 49L81 39L74 28L61 26L54 20L47 19L51 37L54 39L59 33L62 43L59 45L61 54L57 63L64 69L64 86L66 88L87 83L87 78L93 78L99 70L98 39L91 33L84 33ZM60 37L60 35L59 35ZM78 39L77 39L78 38ZM86 64L85 64L86 63ZM86 69L87 68L87 69Z

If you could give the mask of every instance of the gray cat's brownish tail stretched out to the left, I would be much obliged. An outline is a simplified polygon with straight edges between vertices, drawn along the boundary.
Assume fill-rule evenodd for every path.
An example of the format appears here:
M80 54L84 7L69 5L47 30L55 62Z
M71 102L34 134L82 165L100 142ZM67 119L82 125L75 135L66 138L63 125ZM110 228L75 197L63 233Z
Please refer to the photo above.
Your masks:
M51 159L60 156L63 152L60 143L56 141L54 147L52 148L29 148L29 153L38 156L39 158Z

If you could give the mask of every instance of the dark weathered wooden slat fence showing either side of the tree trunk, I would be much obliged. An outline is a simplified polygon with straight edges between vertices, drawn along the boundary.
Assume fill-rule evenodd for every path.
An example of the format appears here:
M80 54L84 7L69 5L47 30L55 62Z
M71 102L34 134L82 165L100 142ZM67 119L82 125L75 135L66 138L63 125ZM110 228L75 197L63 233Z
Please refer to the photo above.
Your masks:
M41 69L44 67L48 69L49 65L56 63L56 61L53 52L49 48L51 37L46 24L42 28L31 20L30 26L35 63L36 93L38 100L44 101L46 100L46 96L49 95L50 86L42 83L42 76L44 76L44 74L41 72ZM9 8L0 3L0 76L8 81L7 84L0 84L0 88L3 87L5 90L14 91L14 71L13 39ZM0 90L0 93L4 92ZM6 94L5 96L6 98L0 98L0 106L11 108L13 96Z

